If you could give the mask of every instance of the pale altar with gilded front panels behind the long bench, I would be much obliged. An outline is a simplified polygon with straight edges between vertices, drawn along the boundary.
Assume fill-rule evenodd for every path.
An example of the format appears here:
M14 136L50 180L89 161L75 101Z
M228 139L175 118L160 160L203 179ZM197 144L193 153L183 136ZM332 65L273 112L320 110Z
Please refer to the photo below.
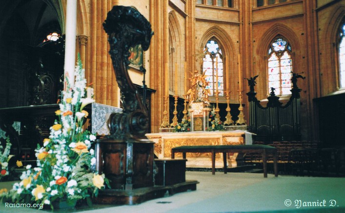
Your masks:
M160 159L171 158L171 149L178 146L202 146L202 145L244 145L244 131L215 131L215 132L180 132L180 133L151 133L146 136L155 142L155 155ZM176 154L175 158L182 158L182 154ZM210 153L187 153L186 167L211 168ZM242 155L228 153L228 168L240 166ZM216 168L223 168L223 155L216 154Z

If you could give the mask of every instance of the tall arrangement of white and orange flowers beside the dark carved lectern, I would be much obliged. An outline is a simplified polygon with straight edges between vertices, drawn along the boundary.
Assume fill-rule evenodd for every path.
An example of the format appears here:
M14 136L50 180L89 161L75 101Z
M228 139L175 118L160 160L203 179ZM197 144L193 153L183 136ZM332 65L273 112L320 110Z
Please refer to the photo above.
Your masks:
M12 190L1 194L2 199L15 203L47 204L53 209L58 201L76 202L85 199L91 204L91 197L97 196L104 187L104 174L94 174L95 165L92 141L96 136L83 130L83 119L88 116L83 108L94 102L85 97L86 79L81 67L80 57L75 70L75 84L71 88L67 81L66 91L62 93L60 110L50 127L50 136L37 146L37 167L26 166L27 171L20 176Z

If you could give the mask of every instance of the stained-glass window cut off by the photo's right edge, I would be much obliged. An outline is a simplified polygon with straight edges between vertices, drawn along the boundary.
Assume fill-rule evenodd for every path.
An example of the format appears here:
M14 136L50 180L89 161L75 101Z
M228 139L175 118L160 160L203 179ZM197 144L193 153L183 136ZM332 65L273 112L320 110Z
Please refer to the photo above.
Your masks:
M345 21L339 29L339 79L340 87L345 87Z

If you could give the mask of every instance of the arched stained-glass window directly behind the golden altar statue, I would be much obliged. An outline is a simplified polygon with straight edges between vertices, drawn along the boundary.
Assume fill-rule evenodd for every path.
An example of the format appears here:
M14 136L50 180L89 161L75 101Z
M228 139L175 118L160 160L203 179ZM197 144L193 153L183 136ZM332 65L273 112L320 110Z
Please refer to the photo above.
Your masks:
M209 96L214 96L218 90L219 96L224 96L223 54L218 42L212 38L204 47L203 73L208 82ZM218 81L218 83L216 83Z

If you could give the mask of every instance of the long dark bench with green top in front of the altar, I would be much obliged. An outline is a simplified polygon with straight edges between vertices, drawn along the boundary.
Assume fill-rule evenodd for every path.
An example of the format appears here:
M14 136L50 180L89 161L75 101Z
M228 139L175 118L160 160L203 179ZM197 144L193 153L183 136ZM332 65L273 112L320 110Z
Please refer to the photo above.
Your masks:
M211 153L212 174L215 174L216 153L223 153L224 174L227 170L226 153L261 153L263 156L264 177L267 177L267 154L273 155L274 175L278 176L277 148L267 145L214 145L214 146L180 146L171 149L171 158L175 153L182 153L183 159L186 153Z

